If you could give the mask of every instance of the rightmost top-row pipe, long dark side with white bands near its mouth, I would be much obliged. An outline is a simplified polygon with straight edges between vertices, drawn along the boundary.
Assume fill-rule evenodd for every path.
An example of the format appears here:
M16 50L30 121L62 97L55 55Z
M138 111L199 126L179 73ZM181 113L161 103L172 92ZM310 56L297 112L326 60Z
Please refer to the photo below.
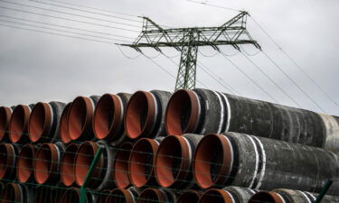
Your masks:
M339 125L334 116L202 88L174 93L165 127L167 134L238 132L339 152Z

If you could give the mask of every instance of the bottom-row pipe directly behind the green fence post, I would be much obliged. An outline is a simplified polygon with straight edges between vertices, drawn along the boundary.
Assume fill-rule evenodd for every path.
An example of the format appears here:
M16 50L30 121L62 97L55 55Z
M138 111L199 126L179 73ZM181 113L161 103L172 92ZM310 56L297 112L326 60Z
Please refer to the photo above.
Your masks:
M80 202L80 189L70 188L63 193L63 196L59 203L76 203L76 202ZM96 203L97 196L91 192L86 192L85 202Z

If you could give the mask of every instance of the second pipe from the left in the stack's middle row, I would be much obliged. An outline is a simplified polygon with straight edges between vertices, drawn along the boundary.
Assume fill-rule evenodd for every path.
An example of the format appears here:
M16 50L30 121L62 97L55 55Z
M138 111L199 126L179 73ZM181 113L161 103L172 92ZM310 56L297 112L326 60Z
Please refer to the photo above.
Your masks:
M20 182L33 182L33 161L38 151L38 146L31 143L24 144L16 161L16 179Z

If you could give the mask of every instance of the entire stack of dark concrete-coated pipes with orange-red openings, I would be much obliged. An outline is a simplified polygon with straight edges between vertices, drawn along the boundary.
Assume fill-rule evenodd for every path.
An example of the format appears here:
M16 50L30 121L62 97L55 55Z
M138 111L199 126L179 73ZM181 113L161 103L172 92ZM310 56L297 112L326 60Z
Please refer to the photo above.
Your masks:
M5 202L79 201L99 148L88 202L311 202L327 180L339 202L338 117L207 89L2 106L0 140Z

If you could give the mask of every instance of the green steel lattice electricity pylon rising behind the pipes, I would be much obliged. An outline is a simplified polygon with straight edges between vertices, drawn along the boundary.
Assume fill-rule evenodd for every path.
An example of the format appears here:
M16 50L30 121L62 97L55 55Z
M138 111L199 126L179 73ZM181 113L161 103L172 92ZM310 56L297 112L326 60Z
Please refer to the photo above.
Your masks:
M143 17L143 29L129 46L141 52L140 48L154 48L161 51L161 47L173 47L181 51L181 59L175 90L179 88L195 88L196 60L199 46L212 46L220 51L219 45L231 45L240 51L239 44L253 44L261 49L246 29L247 12L240 12L227 23L219 27L190 27L163 29L147 17Z

